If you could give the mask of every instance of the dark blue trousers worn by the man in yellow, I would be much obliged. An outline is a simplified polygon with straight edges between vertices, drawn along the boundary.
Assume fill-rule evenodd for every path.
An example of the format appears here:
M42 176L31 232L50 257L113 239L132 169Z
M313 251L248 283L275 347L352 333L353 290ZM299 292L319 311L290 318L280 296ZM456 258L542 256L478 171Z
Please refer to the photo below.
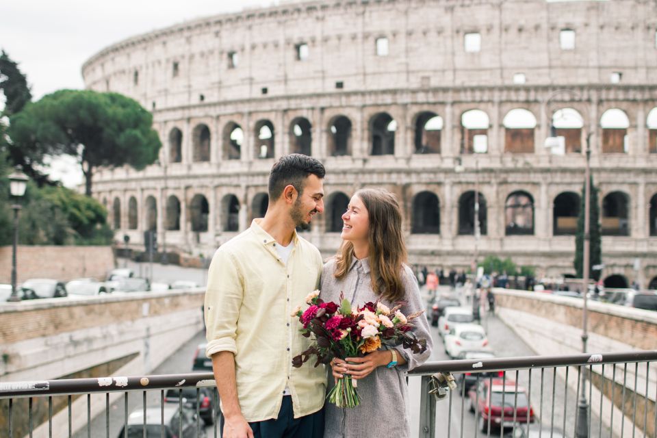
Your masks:
M322 438L324 437L324 408L320 411L294 418L292 397L283 396L279 417L275 420L248 424L254 438ZM219 428L224 435L224 416L220 415Z

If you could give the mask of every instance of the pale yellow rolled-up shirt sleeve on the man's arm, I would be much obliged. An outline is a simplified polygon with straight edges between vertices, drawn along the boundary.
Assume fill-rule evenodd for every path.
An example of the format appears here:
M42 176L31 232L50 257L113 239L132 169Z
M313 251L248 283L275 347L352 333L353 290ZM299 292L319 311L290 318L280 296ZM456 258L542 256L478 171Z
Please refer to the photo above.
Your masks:
M212 257L205 292L205 355L212 357L220 351L237 353L235 333L244 287L233 256L219 249Z

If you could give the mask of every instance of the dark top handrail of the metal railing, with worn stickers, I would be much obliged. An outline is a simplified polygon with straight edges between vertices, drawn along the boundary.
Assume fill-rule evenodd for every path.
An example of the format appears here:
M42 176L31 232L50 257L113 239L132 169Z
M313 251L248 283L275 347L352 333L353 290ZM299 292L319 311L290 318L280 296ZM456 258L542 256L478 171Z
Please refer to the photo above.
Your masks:
M509 371L568 365L591 365L593 363L598 365L602 363L634 363L647 361L657 361L657 350L604 354L435 361L425 363L424 365L413 369L409 372L409 375L424 376L436 372ZM211 372L201 372L192 374L160 374L154 376L66 378L52 381L0 382L0 399L196 386L216 386L214 375Z

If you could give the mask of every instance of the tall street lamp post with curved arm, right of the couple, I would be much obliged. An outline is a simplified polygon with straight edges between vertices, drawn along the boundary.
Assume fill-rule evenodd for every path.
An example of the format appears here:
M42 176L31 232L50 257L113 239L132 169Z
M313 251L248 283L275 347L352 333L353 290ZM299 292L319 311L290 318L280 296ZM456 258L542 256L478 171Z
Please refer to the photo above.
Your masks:
M580 96L574 90L556 90L548 96L545 100L543 109L548 106L550 99L560 93L572 94ZM589 293L589 263L590 263L590 250L591 250L591 136L593 129L591 129L591 114L587 108L587 115L589 118L589 131L587 132L587 149L585 151L586 160L584 164L584 251L582 257L582 283L584 283L584 290L582 291L582 352L587 352L587 341L589 339L589 327L587 321L587 295ZM556 147L563 147L561 139L556 137L556 129L552 125L552 117L550 117L550 137L545 139L545 147L554 149ZM589 403L587 402L586 383L587 383L587 368L584 367L581 374L580 394L577 405L576 421L576 438L586 438L589 436Z

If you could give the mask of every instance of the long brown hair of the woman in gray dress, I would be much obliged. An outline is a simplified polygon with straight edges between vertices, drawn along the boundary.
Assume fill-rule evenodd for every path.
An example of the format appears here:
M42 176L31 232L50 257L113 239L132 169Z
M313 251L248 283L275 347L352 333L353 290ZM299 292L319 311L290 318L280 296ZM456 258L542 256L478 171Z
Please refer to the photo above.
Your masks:
M356 192L368 210L368 259L374 293L391 302L404 298L403 263L408 254L402 234L402 212L394 194L385 189L361 189ZM344 279L354 257L354 245L344 240L335 257L335 277Z

